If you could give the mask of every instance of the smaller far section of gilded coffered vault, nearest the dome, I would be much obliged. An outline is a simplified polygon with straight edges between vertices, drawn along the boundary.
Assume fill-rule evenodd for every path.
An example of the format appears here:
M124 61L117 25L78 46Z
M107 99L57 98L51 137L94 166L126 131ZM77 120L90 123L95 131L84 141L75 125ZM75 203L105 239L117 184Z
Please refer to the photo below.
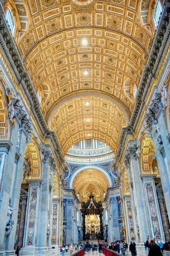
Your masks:
M51 116L50 128L55 130L65 155L76 142L97 139L116 153L121 128L127 125L124 113L113 102L82 96L61 105Z

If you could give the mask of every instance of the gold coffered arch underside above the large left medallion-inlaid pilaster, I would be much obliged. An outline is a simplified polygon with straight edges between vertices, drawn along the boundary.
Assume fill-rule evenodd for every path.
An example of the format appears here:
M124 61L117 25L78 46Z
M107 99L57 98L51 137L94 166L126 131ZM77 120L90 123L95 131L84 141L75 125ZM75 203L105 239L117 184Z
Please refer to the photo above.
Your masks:
M37 144L32 139L25 151L23 165L23 181L41 177L40 152Z

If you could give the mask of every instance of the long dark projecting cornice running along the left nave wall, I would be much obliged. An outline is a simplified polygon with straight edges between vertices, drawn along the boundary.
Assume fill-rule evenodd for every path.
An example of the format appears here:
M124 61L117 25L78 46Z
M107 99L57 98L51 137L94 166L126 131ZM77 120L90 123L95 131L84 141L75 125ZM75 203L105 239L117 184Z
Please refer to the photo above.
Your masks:
M0 4L0 45L3 49L4 55L6 55L6 58L9 61L10 67L14 75L16 76L18 84L20 84L23 92L25 93L28 99L30 110L32 111L32 115L35 121L37 122L37 125L39 126L41 133L43 134L44 137L51 135L52 141L55 144L55 153L58 158L58 161L63 167L63 169L65 169L66 162L61 153L61 147L58 142L58 138L55 132L50 131L46 125L46 121L40 109L40 104L38 102L34 87L32 85L32 81L29 77L28 72L24 68L23 62L20 58L20 53L16 47L14 39L12 38L12 34L9 31L9 28L6 24L3 12L4 10L1 3Z

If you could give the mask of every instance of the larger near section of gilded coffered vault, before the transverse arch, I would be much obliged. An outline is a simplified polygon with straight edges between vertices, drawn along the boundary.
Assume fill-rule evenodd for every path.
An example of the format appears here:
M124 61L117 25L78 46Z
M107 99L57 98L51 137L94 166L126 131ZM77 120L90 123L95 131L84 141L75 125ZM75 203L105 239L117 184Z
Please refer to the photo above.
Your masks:
M62 99L81 91L100 92L133 109L152 45L137 0L28 0L29 29L18 49L35 90L43 92L46 120ZM132 84L124 90L124 83ZM43 85L49 88L48 93Z

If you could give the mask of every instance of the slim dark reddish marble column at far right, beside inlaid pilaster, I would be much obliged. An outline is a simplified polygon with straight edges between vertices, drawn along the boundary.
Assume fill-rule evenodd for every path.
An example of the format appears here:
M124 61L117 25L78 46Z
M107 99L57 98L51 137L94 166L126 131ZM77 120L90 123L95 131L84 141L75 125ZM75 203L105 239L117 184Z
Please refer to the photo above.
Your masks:
M161 218L162 218L162 224L163 224L163 228L164 228L164 235L165 235L165 240L170 240L170 232L169 232L169 227L168 227L168 223L167 223L167 216L165 213L165 209L164 209L164 196L163 196L163 192L157 190L158 193L158 202L159 202L159 207L160 207L160 211L161 211Z

